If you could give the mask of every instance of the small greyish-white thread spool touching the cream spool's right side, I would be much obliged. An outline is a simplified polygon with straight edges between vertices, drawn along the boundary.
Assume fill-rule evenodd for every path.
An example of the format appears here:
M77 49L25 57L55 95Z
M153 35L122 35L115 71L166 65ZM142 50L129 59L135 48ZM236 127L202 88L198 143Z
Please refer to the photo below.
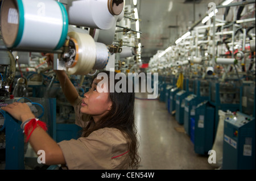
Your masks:
M96 62L93 69L104 69L109 62L109 49L103 43L96 44Z

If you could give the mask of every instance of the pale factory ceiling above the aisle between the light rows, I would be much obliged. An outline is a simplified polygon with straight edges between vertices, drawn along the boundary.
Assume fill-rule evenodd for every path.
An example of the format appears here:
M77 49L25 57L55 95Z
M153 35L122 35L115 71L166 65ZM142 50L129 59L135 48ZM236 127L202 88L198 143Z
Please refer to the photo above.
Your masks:
M208 3L221 0L138 0L142 62L147 63L158 50L164 50L189 30L208 11ZM133 5L133 0L126 0ZM203 24L199 24L203 25Z

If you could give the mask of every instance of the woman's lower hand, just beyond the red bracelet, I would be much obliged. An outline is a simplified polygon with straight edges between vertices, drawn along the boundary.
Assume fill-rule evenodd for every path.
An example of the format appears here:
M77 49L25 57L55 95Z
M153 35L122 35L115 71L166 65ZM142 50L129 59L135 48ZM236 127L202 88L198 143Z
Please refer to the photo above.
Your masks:
M22 122L35 118L35 115L31 112L30 107L26 103L14 102L6 107L2 107L2 110L9 112L16 120Z

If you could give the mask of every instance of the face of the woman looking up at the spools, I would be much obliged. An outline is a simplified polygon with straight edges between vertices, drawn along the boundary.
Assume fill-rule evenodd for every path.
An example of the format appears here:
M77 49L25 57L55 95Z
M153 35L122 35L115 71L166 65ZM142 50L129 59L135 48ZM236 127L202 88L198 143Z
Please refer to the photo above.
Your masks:
M100 81L101 79L94 79L91 89L84 94L81 103L81 112L91 115L95 123L106 115L112 106L112 102L109 100L109 91L100 91L100 89L105 89L103 84L98 85Z

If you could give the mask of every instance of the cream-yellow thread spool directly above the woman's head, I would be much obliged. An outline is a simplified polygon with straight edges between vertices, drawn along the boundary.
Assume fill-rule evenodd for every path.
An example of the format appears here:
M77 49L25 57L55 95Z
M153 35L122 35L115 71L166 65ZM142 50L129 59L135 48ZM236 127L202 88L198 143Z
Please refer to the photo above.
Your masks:
M96 44L92 36L86 33L69 32L69 41L75 44L76 56L73 64L67 65L68 74L86 75L96 62Z

